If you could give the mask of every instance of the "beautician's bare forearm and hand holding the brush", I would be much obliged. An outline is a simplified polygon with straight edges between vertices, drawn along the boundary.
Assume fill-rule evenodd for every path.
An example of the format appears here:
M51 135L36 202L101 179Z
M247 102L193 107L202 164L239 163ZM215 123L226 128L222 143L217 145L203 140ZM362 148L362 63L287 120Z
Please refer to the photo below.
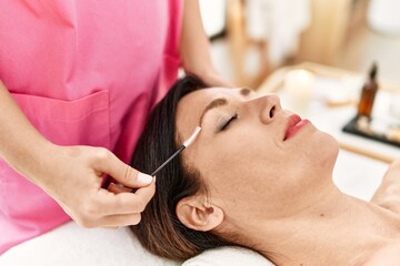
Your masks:
M106 149L49 142L32 126L1 81L0 125L0 157L50 194L79 224L116 227L139 223L156 190L150 176L139 175ZM134 194L103 190L100 186L104 175L139 190Z

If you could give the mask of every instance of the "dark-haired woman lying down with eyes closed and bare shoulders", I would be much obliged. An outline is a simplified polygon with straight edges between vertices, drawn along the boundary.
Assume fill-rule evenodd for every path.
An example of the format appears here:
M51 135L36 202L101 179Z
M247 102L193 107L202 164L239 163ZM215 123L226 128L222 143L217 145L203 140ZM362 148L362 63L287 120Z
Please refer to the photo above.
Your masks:
M132 227L151 253L183 260L239 245L276 265L400 265L399 162L370 203L346 195L332 182L332 136L276 94L187 76L152 112L132 166L151 173L198 125Z

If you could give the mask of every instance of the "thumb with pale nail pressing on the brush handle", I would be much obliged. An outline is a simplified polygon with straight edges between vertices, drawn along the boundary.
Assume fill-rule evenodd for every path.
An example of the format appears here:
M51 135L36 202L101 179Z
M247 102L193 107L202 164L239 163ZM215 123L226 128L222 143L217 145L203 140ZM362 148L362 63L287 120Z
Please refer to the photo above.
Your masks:
M120 161L113 153L110 152L110 156L107 156L102 163L100 163L100 171L112 176L116 181L124 186L134 188L147 186L152 182L151 175L141 173L130 165Z

